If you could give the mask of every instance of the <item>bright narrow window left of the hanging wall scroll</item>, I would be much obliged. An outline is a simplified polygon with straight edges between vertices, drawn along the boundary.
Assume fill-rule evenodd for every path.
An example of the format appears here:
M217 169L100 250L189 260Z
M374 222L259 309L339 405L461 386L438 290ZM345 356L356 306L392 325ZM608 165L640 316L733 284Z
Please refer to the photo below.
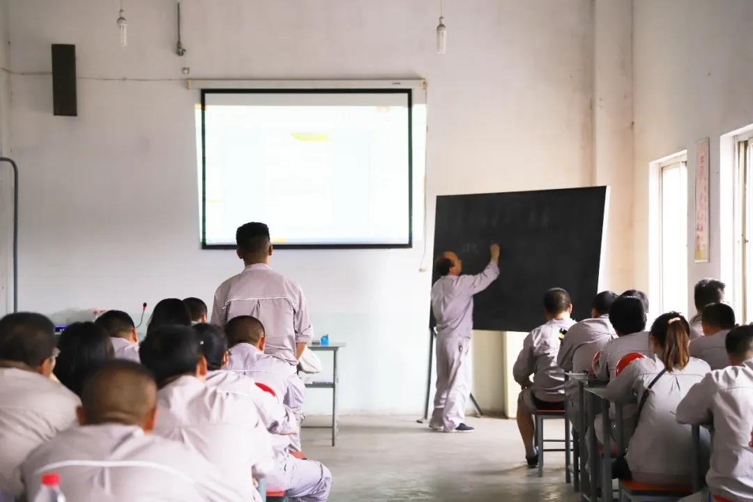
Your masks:
M660 312L687 312L687 158L659 163Z

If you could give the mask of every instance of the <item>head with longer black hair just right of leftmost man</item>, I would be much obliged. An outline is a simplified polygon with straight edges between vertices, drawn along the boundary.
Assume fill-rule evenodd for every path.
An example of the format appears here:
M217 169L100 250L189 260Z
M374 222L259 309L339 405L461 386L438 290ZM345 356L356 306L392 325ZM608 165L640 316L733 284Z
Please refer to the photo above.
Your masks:
M78 397L90 374L115 357L105 328L93 322L75 322L66 327L60 333L57 347L60 353L55 376Z

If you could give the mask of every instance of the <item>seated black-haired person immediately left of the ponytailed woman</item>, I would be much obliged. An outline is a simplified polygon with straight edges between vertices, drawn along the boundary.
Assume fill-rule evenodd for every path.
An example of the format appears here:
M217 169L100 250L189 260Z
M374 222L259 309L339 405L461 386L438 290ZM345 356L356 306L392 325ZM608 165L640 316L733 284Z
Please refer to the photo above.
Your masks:
M612 303L609 321L617 338L608 342L599 352L599 360L593 368L597 379L603 382L613 379L617 363L630 352L651 355L648 333L645 332L646 304L635 296L620 296Z

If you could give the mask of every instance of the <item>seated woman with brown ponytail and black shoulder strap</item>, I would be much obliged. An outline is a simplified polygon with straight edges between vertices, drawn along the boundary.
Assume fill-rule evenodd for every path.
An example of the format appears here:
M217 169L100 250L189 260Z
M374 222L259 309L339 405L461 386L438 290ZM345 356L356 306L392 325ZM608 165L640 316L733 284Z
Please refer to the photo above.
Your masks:
M614 403L639 403L636 431L620 479L649 485L690 485L691 427L677 423L678 403L711 368L688 354L691 327L677 312L660 315L651 326L651 357L636 359L607 385Z

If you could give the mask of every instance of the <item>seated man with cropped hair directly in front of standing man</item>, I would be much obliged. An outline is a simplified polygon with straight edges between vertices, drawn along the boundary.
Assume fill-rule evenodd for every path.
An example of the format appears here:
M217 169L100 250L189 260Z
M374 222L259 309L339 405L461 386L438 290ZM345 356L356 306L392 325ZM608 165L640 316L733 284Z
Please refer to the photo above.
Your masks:
M270 386L282 396L283 403L300 415L306 388L298 378L295 367L284 359L264 353L267 336L264 325L250 315L239 315L225 325L230 361L227 370L251 374L257 382ZM300 438L291 437L291 448L300 452Z

